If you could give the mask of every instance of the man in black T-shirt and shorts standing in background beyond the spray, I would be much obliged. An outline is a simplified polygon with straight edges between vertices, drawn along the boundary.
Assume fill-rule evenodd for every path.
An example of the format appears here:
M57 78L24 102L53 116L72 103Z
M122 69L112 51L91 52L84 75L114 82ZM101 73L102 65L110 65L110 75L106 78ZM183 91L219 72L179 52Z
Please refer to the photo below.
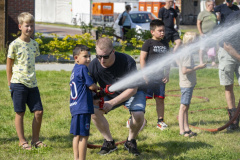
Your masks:
M169 43L176 43L174 46L173 52L176 52L178 47L181 45L181 39L177 30L179 29L179 18L176 10L172 8L173 0L166 0L166 5L160 8L158 12L158 18L163 21L165 25L165 38ZM177 30L174 28L174 19L176 19Z

